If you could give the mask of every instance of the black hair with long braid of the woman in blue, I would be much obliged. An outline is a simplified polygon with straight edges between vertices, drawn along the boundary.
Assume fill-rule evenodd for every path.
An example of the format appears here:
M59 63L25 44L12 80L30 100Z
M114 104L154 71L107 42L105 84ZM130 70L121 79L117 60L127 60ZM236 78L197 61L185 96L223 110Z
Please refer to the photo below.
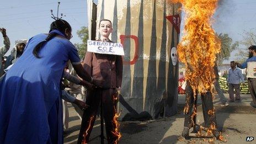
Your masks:
M65 29L71 30L71 26L70 26L70 24L68 24L68 22L66 22L66 20L63 20L63 19L55 20L54 22L51 23L51 26L50 26L50 31L59 30L64 35L65 35ZM49 33L50 33L50 31L49 31ZM44 41L39 42L39 44L35 46L35 48L33 50L33 54L36 58L41 58L38 55L38 53L41 50L42 45L44 45L47 41L50 41L56 35L57 35L57 33L48 34L47 38Z

